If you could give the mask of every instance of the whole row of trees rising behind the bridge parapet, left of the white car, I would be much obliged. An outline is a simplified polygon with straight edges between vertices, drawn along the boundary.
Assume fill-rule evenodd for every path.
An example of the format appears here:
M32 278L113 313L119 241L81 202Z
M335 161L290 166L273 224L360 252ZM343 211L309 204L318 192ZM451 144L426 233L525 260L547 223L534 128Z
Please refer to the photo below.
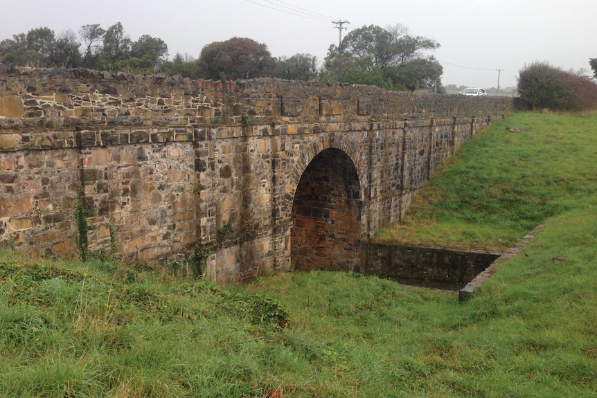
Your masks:
M442 66L425 55L439 47L427 37L411 35L398 24L370 25L332 44L323 64L317 57L297 53L272 57L264 43L232 37L202 48L197 59L177 53L170 60L168 45L159 37L130 39L120 22L104 29L81 26L78 33L55 34L42 27L0 42L0 62L15 66L84 67L130 73L163 73L184 78L238 80L262 77L373 84L393 90L435 89L442 92Z

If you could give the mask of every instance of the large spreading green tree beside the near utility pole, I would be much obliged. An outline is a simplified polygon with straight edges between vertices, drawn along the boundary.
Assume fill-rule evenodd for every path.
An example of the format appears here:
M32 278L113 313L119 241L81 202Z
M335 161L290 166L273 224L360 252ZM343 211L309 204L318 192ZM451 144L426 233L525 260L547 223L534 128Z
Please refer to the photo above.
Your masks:
M322 78L387 89L440 85L441 65L434 57L422 55L438 47L438 42L412 36L400 24L386 29L363 26L348 33L340 46L330 46Z

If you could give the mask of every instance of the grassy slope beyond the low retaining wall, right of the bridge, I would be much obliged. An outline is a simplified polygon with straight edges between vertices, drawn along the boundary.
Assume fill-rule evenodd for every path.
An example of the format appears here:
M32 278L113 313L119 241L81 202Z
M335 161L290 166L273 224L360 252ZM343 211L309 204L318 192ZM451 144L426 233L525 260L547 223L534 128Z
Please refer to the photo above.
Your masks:
M506 132L507 126L520 133ZM597 192L597 116L518 113L465 142L378 242L506 248ZM429 228L432 226L432 228Z

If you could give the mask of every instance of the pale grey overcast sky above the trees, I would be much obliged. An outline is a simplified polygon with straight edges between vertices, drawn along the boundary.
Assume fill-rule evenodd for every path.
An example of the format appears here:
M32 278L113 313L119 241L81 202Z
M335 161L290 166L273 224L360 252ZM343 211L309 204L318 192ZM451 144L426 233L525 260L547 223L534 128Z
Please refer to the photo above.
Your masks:
M597 57L596 0L0 0L0 40L48 27L56 34L85 24L123 24L134 41L159 37L176 53L199 57L211 42L249 37L271 55L316 55L323 62L339 30L333 21L402 24L435 39L429 53L443 65L443 84L516 85L525 64L545 61L590 71ZM587 74L590 74L587 72Z

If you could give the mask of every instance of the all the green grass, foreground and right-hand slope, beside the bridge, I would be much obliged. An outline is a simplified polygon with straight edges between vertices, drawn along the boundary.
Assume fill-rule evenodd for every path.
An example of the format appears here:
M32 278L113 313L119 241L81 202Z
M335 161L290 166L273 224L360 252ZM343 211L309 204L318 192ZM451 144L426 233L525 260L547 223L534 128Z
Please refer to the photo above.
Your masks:
M347 273L224 289L3 253L0 396L595 397L596 126L517 114L435 174L408 228L423 242L510 244L548 219L465 303Z

